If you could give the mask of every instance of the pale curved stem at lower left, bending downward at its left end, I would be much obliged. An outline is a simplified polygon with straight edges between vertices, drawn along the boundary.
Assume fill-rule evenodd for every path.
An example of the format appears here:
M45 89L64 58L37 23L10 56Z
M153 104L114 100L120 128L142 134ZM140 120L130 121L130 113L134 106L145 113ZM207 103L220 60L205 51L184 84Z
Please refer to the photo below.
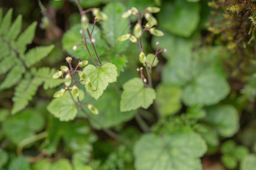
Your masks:
M32 137L29 137L29 138L26 138L24 139L23 141L21 141L19 144L18 144L18 147L17 147L17 155L22 155L22 149L23 147L25 147L27 144L29 143L32 143L32 142L35 142L35 141L38 141L40 139L43 139L43 138L46 138L47 137L47 132L44 131L42 133L39 133L37 135L34 135Z

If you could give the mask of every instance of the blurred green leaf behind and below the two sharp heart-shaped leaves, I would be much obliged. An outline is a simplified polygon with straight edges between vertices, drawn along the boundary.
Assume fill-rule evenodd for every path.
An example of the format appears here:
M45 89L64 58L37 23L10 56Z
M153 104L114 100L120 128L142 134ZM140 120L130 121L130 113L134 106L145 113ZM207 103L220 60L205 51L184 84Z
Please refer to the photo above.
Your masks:
M98 100L87 95L83 102L93 104L99 111L98 115L94 115L86 109L92 118L91 125L95 129L109 128L132 119L135 114L133 111L120 111L120 100L120 94L113 86L109 86Z

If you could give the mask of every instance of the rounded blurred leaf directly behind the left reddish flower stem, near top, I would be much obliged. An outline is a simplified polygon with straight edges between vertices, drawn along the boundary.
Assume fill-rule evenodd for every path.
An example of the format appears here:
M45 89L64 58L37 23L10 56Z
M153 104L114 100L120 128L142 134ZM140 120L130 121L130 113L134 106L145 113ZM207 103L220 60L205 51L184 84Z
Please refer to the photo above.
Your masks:
M89 24L89 30L91 30L93 27L92 24ZM74 57L80 58L80 59L86 59L89 58L89 54L86 50L85 46L78 46L77 49L74 51L73 47L77 44L84 44L83 35L80 34L80 30L82 29L81 24L77 24L73 27L71 27L63 36L62 39L62 45L64 50L66 50L69 54L71 54ZM84 33L87 36L86 30L84 30ZM88 37L88 36L87 36ZM94 46L97 49L98 55L101 56L106 51L107 45L105 41L101 38L101 30L99 27L95 26L92 34L92 38L95 39ZM93 51L93 47L91 46L90 40L87 40L87 46L90 50L91 55L95 58L95 54Z

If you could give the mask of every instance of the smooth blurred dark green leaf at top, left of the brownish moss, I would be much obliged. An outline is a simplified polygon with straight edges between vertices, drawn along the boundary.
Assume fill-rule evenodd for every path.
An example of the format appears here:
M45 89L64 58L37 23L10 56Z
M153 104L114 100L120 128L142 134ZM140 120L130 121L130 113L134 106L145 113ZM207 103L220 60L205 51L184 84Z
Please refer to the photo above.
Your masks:
M200 4L176 0L162 5L158 13L159 27L175 35L189 37L200 21ZM169 17L165 17L169 16Z

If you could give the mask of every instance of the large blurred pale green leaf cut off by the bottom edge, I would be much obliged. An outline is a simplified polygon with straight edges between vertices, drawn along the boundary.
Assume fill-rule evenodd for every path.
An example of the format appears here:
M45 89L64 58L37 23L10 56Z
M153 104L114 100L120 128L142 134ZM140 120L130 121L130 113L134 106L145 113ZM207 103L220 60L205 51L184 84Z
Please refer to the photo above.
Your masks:
M143 135L136 142L133 153L138 170L200 170L200 157L207 146L200 135L194 132L180 132Z

